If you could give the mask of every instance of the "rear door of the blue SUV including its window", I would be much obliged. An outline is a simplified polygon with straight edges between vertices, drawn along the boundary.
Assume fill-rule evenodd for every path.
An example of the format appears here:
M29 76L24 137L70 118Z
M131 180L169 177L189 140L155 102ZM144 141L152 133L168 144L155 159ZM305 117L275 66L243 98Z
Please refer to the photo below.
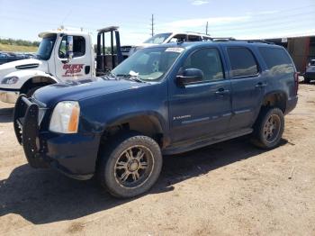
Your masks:
M266 75L249 47L225 46L232 90L232 117L229 130L251 127L265 94Z

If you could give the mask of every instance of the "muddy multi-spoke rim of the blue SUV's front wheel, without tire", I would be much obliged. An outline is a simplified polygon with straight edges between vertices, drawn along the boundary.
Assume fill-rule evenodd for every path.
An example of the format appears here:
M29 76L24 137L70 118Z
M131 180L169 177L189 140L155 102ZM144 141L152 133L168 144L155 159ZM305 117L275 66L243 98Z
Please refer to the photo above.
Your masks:
M127 188L142 186L154 168L153 154L147 147L134 145L121 152L114 167L116 182Z

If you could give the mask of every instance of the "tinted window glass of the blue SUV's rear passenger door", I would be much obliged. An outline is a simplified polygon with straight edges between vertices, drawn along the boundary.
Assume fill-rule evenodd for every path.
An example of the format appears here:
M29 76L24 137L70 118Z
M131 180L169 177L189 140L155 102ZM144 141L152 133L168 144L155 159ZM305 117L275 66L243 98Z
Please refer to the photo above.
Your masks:
M232 77L257 76L257 62L250 50L241 47L229 48L228 54Z

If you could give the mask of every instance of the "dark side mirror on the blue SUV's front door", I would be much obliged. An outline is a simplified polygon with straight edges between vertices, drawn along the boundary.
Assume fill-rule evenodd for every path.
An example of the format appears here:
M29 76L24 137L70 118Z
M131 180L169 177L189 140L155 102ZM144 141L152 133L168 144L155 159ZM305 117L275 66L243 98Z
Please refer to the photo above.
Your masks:
M182 73L176 76L178 86L186 86L202 82L203 72L198 68L186 68Z

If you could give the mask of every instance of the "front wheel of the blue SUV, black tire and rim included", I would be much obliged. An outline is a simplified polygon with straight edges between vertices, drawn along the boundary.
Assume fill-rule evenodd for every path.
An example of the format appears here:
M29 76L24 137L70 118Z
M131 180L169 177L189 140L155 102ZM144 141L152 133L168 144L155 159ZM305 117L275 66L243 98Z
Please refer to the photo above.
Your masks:
M137 160L141 151L144 154ZM138 132L128 132L112 137L112 141L100 151L96 177L113 196L127 198L141 195L156 183L162 159L156 141Z

